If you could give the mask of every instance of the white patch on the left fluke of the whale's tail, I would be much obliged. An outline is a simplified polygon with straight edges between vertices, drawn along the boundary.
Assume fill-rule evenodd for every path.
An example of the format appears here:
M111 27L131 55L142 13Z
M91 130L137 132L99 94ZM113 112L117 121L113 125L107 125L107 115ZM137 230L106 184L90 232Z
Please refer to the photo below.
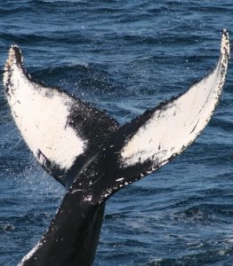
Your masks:
M70 107L75 99L31 82L17 61L14 49L12 46L4 68L4 86L12 116L41 164L45 156L60 168L68 169L76 157L84 153L86 141L68 125Z

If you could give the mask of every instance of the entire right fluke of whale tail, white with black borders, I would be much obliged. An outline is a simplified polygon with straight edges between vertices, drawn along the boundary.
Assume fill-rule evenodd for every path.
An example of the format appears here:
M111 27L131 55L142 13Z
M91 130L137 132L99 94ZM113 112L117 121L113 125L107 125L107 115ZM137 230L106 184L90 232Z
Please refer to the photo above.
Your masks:
M221 97L229 51L229 34L223 30L220 57L205 78L114 133L108 152L108 168L114 169L116 180L111 193L165 165L205 129Z

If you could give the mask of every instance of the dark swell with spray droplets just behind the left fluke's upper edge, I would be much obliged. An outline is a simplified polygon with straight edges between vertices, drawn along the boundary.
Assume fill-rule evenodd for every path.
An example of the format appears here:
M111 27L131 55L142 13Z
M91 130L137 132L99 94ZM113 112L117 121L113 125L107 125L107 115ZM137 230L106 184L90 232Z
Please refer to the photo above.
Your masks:
M68 90L93 103L125 95L122 82L117 80L100 65L81 63L71 66L54 66L30 73L35 81L43 81L48 86ZM126 92L127 93L127 92ZM108 101L106 102L108 105Z

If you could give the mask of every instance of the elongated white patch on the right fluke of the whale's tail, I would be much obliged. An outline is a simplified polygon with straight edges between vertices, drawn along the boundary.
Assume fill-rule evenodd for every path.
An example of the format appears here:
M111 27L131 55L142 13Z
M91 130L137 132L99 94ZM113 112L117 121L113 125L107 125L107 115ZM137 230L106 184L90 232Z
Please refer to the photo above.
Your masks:
M219 101L228 59L229 35L224 30L221 56L213 72L152 114L125 143L121 151L122 168L146 160L161 166L194 141L211 119Z

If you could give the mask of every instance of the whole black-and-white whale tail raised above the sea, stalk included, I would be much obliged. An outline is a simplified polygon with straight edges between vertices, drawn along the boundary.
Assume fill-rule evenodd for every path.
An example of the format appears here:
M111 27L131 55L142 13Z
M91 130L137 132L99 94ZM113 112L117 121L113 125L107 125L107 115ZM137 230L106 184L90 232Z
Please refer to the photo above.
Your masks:
M181 95L119 127L79 98L33 82L12 45L4 90L12 117L36 160L67 192L38 244L20 265L92 265L105 201L188 147L217 106L229 60L229 35L213 71Z

